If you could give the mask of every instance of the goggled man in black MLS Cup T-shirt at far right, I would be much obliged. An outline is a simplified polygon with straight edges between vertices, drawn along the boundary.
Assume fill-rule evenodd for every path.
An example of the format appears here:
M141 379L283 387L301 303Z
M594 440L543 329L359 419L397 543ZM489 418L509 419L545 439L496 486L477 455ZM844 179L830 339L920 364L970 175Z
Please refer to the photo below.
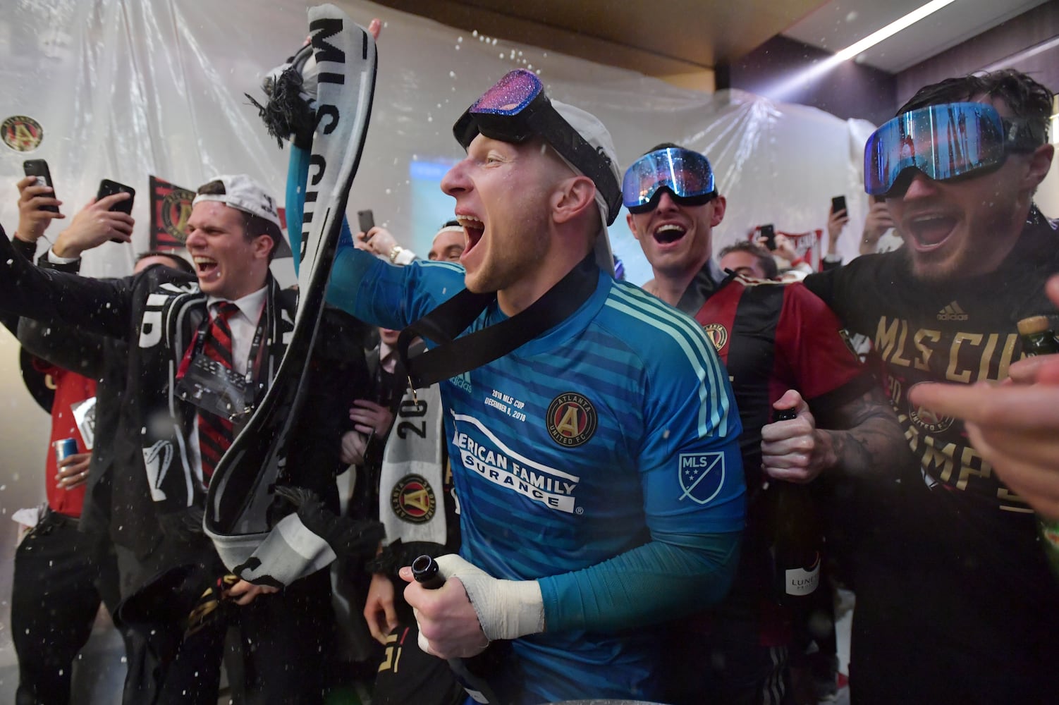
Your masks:
M1052 106L1048 88L1013 70L917 91L865 149L865 191L885 196L903 247L805 279L874 340L909 448L887 473L899 485L845 509L869 518L855 527L850 575L857 703L1055 700L1059 603L1034 513L961 420L916 403L934 382L1005 380L1017 322L1056 314L1043 289L1059 237L1034 203L1054 155ZM967 657L969 644L989 645L988 664Z

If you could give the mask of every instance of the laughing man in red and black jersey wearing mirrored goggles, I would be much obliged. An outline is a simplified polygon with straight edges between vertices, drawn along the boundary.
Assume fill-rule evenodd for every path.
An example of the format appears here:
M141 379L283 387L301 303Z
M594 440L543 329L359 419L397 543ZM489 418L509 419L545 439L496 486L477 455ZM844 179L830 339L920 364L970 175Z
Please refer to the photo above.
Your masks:
M708 612L711 635L694 619L675 625L667 643L680 652L665 659L678 665L666 673L666 702L700 703L703 692L719 702L786 702L790 673L779 647L787 645L776 635L789 631L784 620L793 616L776 602L764 567L771 566L764 530L771 518L762 517L772 503L761 487L770 477L808 482L837 466L884 472L904 452L903 437L820 300L800 284L778 286L720 271L713 229L726 201L704 156L659 145L626 171L623 199L629 228L651 264L654 291L711 331L728 366L742 420L748 506L758 518L744 535L739 588ZM771 423L774 409L797 417ZM816 428L818 418L828 430ZM837 426L843 430L831 430ZM858 438L865 434L877 441L874 455L862 452ZM689 662L692 654L699 661Z

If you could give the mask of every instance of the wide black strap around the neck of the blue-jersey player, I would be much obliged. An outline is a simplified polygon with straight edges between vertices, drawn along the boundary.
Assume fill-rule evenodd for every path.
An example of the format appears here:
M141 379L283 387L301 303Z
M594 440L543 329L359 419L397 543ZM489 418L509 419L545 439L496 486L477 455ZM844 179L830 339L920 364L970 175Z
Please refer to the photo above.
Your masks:
M398 362L413 390L481 367L567 320L589 300L598 277L599 268L590 254L524 310L456 338L497 300L496 292L473 293L463 289L400 332ZM420 336L436 347L409 358L408 346Z

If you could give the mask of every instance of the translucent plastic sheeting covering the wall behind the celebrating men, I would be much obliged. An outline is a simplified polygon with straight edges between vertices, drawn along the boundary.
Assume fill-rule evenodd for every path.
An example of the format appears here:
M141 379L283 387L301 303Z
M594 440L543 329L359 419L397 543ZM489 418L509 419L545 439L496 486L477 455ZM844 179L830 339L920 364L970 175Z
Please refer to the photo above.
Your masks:
M578 105L609 127L623 165L660 142L708 156L724 222L715 251L756 224L801 232L826 228L830 197L844 194L851 221L840 250L849 256L866 211L861 160L870 126L739 91L710 95L633 72L447 28L369 2L339 3L365 25L379 17L378 85L364 158L349 213L373 209L378 224L420 254L452 201L437 187L462 150L451 135L460 113L506 71L539 71L549 93ZM262 76L307 34L305 4L291 0L6 0L0 14L0 120L29 115L43 127L33 152L0 145L0 223L18 218L15 182L26 158L46 159L68 218L109 178L138 191L133 246L107 243L85 257L83 272L121 276L148 245L148 175L194 188L216 174L246 171L282 200L286 151L270 139L244 93L264 100ZM356 222L356 220L353 220ZM60 230L54 223L49 237ZM624 213L611 228L628 278L650 268ZM274 269L292 282L290 260ZM0 333L0 517L43 498L48 417L17 372L17 344ZM0 524L2 554L14 523ZM10 591L0 568L0 599ZM6 579L4 579L6 578ZM6 619L6 614L3 614ZM5 636L7 630L3 630ZM0 644L12 663L10 643ZM3 677L0 691L12 684ZM3 695L0 694L0 698Z

